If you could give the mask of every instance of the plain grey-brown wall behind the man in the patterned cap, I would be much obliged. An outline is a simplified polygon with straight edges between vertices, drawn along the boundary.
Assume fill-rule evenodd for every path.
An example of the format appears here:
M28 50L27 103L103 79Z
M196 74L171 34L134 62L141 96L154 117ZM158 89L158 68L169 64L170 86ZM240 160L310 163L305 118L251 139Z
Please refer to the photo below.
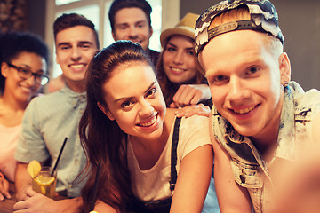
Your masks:
M320 1L270 0L284 34L284 51L292 65L292 80L308 91L320 90ZM180 14L201 14L218 0L181 0Z

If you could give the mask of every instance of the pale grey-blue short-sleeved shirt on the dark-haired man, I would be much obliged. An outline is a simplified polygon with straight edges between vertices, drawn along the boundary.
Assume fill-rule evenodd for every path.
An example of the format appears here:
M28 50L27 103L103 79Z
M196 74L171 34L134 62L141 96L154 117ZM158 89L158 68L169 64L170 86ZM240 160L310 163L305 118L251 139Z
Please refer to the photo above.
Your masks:
M18 140L15 159L18 162L58 158L60 147L66 137L57 167L56 191L67 191L68 197L77 197L85 181L78 177L84 169L86 158L80 144L78 123L85 107L85 92L76 93L68 86L60 91L32 99L22 121L22 132Z

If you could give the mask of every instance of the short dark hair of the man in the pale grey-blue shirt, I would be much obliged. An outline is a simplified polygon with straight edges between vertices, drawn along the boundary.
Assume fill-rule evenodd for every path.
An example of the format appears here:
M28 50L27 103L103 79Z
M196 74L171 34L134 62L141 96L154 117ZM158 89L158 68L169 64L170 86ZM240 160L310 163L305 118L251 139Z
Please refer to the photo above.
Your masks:
M91 20L88 20L83 15L76 14L76 13L69 13L69 14L64 13L54 21L53 23L54 40L56 39L56 36L60 31L67 28L73 28L76 26L85 26L85 27L91 28L95 36L97 48L99 49L99 46L100 46L99 37L98 37L97 31L94 28L94 24L92 23Z

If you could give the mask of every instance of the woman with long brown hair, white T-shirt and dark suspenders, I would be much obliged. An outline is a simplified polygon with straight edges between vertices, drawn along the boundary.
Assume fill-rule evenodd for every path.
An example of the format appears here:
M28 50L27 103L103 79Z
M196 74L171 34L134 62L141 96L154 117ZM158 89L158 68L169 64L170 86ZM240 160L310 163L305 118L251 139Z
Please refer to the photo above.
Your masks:
M84 212L98 168L100 213L201 212L212 174L208 118L179 119L166 108L140 44L118 41L100 51L87 70L86 92L79 126L90 175Z

